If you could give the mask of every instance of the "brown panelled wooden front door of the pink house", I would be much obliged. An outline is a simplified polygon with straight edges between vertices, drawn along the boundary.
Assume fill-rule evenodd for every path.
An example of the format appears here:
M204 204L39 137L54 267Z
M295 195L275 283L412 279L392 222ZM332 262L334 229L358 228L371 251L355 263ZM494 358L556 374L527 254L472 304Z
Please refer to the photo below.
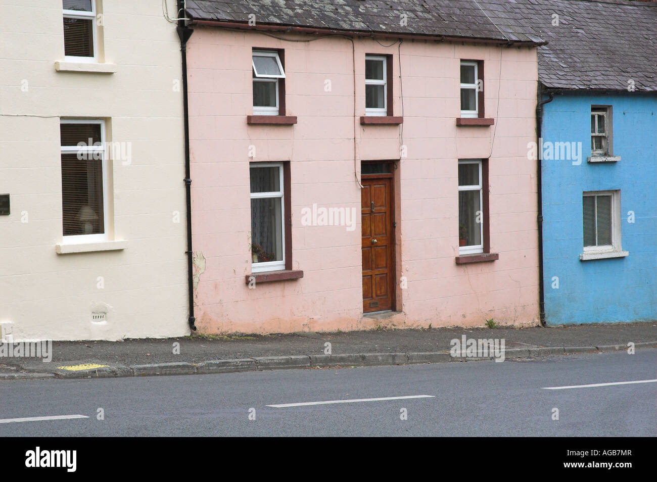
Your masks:
M363 175L363 313L394 309L392 175ZM386 177L383 177L386 176Z

